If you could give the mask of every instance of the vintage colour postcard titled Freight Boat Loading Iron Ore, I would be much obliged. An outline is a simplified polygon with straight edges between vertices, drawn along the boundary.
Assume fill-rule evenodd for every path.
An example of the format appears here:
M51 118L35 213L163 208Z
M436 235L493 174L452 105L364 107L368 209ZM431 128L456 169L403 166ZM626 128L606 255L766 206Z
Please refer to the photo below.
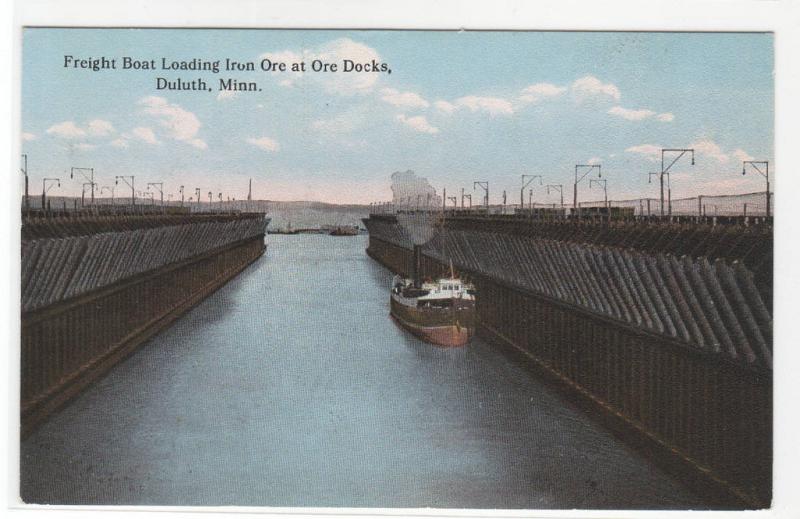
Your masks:
M773 32L20 47L20 506L772 507Z

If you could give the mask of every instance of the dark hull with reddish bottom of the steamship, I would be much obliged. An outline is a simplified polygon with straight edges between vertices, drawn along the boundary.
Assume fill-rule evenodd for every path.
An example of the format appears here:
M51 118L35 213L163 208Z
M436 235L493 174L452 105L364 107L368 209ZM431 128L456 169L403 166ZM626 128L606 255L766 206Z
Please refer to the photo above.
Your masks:
M447 348L464 346L475 332L474 305L421 311L391 300L391 316L420 339Z

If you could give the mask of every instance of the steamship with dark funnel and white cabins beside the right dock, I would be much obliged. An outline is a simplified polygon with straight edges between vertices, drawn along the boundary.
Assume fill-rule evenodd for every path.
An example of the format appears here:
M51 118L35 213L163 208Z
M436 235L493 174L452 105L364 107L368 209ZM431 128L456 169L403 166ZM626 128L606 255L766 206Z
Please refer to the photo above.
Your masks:
M413 278L392 280L391 315L424 341L446 347L464 346L475 333L475 287L456 276L420 279L420 246L414 247Z

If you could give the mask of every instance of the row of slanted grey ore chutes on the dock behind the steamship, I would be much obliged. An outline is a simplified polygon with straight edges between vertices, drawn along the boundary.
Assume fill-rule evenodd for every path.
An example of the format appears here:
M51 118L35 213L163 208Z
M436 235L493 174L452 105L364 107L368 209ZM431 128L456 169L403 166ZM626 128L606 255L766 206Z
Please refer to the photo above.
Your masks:
M411 249L391 219L372 238ZM760 370L772 369L772 316L741 261L440 227L422 253Z

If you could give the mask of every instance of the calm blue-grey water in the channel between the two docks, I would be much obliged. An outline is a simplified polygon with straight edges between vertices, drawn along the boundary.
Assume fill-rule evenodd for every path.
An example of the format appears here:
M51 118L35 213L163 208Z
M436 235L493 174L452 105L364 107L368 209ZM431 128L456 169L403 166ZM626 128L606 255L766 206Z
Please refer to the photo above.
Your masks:
M21 446L35 503L688 508L702 501L473 339L388 316L366 238L267 254Z

